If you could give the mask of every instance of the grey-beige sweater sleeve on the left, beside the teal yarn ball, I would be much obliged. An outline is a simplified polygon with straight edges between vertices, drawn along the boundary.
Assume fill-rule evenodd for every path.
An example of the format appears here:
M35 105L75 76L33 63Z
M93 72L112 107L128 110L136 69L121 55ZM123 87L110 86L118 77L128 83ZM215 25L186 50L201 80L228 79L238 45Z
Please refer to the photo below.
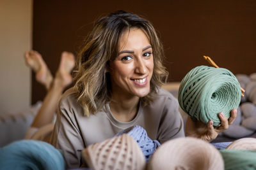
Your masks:
M50 141L54 147L63 151L67 168L81 166L81 151L85 148L75 112L72 101L64 98L60 102Z

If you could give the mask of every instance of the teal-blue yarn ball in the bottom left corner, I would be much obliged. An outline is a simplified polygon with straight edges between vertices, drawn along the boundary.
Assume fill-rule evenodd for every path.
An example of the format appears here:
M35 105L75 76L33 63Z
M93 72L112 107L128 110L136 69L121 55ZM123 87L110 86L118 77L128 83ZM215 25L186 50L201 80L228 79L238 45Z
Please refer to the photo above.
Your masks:
M0 169L65 169L63 156L49 143L22 140L0 148Z

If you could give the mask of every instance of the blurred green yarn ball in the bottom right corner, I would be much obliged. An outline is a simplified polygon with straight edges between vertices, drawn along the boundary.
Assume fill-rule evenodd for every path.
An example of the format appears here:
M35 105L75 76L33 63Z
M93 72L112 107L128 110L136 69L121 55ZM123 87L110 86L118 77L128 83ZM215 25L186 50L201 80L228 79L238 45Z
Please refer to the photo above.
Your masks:
M225 170L256 169L256 151L252 150L220 150Z

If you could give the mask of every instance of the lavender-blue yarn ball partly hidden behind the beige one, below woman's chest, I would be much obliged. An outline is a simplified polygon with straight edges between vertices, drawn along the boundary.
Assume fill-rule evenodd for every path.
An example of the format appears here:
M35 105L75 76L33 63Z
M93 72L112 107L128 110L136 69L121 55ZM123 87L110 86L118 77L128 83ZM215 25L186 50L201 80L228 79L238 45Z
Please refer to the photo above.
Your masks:
M155 152L156 148L161 145L159 141L148 138L147 131L145 131L145 129L139 125L129 127L124 131L119 132L115 136L119 136L125 133L131 136L138 143L147 162L151 155Z

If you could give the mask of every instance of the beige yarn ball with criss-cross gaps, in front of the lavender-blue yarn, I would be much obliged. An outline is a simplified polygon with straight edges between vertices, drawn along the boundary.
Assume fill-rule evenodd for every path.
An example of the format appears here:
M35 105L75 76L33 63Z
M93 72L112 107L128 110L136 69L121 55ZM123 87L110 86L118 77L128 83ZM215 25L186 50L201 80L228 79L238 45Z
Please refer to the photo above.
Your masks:
M94 170L143 170L146 166L140 147L127 134L89 145L81 155L83 164Z

